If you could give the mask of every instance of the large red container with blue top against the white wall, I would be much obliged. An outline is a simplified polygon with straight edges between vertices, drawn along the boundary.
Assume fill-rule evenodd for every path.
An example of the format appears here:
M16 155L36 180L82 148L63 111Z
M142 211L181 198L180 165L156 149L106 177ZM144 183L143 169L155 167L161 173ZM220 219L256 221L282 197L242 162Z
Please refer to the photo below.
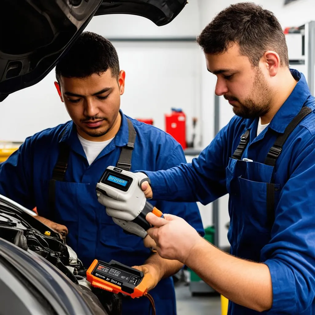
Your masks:
M186 115L180 108L172 108L170 115L165 114L165 131L186 149Z

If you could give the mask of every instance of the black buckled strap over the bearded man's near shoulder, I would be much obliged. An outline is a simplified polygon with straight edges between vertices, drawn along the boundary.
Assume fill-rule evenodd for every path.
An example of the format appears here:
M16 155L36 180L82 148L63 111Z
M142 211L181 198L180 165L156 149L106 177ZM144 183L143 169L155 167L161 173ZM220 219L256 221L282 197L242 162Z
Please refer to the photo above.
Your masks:
M284 130L284 133L278 136L277 140L270 148L265 159L265 164L270 166L276 165L276 160L282 151L282 146L284 145L284 142L288 139L291 132L301 122L301 120L306 117L310 112L312 112L312 110L307 106L303 106L301 108L301 111L292 119L287 128Z

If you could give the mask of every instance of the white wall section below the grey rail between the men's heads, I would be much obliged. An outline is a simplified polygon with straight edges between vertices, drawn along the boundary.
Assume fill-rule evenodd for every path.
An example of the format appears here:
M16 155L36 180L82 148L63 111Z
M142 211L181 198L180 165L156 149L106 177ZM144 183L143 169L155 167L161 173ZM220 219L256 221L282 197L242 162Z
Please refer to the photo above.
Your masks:
M171 107L186 113L187 135L192 117L200 117L199 50L193 42L113 42L126 71L121 108L135 118L153 118L165 130ZM198 130L199 130L198 125ZM200 132L198 132L200 135Z

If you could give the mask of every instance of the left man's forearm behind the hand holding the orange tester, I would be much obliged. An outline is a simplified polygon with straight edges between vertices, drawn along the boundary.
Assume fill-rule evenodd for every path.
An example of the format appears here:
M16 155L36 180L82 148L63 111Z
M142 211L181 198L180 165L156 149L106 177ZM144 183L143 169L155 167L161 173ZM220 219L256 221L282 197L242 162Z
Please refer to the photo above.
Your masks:
M151 266L156 270L158 281L174 275L184 266L180 261L162 258L158 253L151 255L144 265Z

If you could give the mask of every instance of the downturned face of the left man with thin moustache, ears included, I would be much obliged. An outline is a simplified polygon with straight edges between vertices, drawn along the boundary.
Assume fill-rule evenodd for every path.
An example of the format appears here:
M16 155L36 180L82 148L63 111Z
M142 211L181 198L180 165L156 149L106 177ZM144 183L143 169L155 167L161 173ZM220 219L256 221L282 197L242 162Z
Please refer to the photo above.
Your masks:
M60 98L79 133L87 135L85 138L101 137L113 127L124 92L124 78L125 72L121 71L117 82L111 69L85 78L60 78Z

